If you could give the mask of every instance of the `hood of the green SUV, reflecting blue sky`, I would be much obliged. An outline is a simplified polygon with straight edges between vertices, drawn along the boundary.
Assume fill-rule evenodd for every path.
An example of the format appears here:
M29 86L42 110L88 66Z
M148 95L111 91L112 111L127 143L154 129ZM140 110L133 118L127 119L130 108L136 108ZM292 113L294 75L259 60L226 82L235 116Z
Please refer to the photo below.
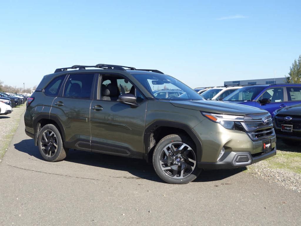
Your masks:
M190 100L190 101L171 101L175 107L187 108L198 111L207 111L211 113L229 114L229 115L248 115L248 114L264 114L267 111L242 105L222 101L210 100Z

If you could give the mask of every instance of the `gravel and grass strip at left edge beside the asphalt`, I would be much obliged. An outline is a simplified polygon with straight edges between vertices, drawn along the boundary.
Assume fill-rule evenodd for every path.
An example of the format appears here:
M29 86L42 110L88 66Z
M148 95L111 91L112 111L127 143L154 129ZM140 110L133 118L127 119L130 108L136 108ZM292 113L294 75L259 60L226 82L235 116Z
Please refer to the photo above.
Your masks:
M13 108L11 114L0 115L0 162L5 151L8 149L11 138L14 136L25 109L26 105L24 104Z

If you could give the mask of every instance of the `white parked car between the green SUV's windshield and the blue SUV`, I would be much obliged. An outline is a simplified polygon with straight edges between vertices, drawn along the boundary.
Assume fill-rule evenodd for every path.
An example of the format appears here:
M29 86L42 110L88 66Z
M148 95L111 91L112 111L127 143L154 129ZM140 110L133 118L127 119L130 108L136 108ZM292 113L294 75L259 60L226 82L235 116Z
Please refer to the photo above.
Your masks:
M241 87L243 86L215 87L203 92L201 96L206 100L222 100Z

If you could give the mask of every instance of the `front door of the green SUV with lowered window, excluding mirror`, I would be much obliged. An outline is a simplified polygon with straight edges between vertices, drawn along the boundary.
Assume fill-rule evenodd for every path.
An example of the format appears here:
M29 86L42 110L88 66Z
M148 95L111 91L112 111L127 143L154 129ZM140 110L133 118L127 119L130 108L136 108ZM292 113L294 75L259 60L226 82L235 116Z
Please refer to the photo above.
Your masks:
M98 87L90 114L92 151L143 158L146 99L121 76L102 75ZM138 106L118 102L123 93L136 95Z

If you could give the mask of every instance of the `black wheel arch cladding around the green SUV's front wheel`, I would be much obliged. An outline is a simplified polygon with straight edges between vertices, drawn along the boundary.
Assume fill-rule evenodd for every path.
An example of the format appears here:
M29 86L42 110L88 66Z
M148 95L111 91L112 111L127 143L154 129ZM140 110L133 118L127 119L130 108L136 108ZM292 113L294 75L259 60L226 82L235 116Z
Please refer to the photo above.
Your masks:
M191 138L196 146L197 162L200 162L203 150L202 143L197 135L188 125L171 121L155 121L145 129L144 159L146 159L147 162L151 162L152 152L154 151L157 142L163 137L174 133L184 133Z

